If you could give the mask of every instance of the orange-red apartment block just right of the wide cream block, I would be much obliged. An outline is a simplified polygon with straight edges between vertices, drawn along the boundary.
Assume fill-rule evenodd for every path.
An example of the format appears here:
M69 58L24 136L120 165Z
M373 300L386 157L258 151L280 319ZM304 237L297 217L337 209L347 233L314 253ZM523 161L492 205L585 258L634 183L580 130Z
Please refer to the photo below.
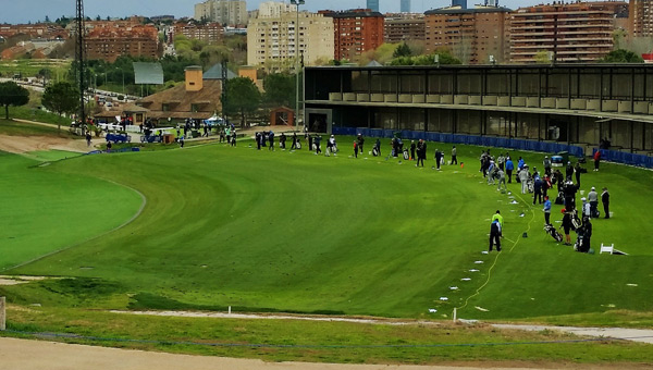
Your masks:
M383 14L369 9L319 12L333 18L334 59L354 60L383 44Z

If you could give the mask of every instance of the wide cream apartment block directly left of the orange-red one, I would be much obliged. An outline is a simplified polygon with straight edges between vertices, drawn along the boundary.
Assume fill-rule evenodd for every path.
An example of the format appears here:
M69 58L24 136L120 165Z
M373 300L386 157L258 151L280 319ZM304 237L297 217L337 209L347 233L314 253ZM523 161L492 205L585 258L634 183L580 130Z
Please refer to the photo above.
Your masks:
M247 63L268 71L293 70L300 61L316 65L333 59L333 20L287 11L284 3L262 3L247 25ZM283 12L279 12L280 7ZM293 10L296 10L293 5Z

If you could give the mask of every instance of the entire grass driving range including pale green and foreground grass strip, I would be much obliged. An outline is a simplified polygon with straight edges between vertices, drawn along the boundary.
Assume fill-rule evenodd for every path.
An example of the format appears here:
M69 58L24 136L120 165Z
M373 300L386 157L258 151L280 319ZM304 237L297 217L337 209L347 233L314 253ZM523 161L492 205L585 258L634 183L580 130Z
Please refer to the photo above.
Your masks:
M500 338L486 329L479 329L481 335L465 326L447 326L453 336L440 337L441 332L429 332L439 330L433 328L423 329L430 333L424 334L412 326L192 322L110 312L230 307L236 312L442 320L443 325L451 325L456 309L458 318L483 322L653 326L651 171L603 163L600 172L582 175L580 190L586 194L592 186L608 187L614 213L609 220L592 220L596 252L590 255L552 239L542 229L542 206L532 206L532 195L521 195L514 178L508 193L488 185L479 172L483 148L458 146L464 165L436 171L433 151L443 150L448 160L451 145L429 143L426 166L418 169L411 161L372 157L368 148L352 158L346 143L353 137L337 140L341 151L331 157L306 148L259 151L250 140L239 140L236 147L208 141L62 160L0 153L0 274L57 278L0 286L9 304L8 329L15 335L57 332L292 345L334 344L330 341L338 335L337 343L361 344L387 344L402 335L408 335L404 340L410 344ZM371 138L368 141L371 149ZM382 143L383 149L386 155L387 143ZM510 156L542 170L543 153ZM580 197L579 193L579 203ZM560 209L554 206L552 211L556 227ZM504 218L503 251L483 254L496 210ZM602 243L628 255L600 255ZM171 332L167 325L172 322L187 332ZM232 337L241 326L250 336ZM515 335L515 341L560 340L560 334L551 333ZM587 353L576 360L653 360L646 345L603 343L609 350L601 345L583 344ZM459 348L402 354L374 349L367 356L362 350L312 356L295 349L256 354L187 345L170 350L274 360L430 363L443 358L572 360L570 346L575 345L551 344L544 351L492 348L471 357Z

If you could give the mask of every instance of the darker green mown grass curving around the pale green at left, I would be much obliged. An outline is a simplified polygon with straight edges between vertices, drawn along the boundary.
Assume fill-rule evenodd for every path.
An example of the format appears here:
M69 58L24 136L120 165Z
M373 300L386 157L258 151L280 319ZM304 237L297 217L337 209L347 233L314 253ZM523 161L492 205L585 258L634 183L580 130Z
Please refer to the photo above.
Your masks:
M605 165L583 177L583 188L611 187L616 214L595 221L594 247L615 242L631 254L588 256L556 246L541 231L539 207L508 206L506 195L479 184L477 148L459 148L468 161L463 170L438 173L383 159L257 152L239 145L85 157L49 166L45 171L52 174L100 166L99 176L140 190L148 205L127 227L13 272L100 278L100 284L118 284L122 293L115 297L123 298L91 305L114 308L124 307L130 293L132 307L232 305L405 317L436 307L430 317L442 318L483 285L461 316L603 312L611 305L652 309L645 231L653 194L642 186L651 172ZM528 156L531 163L541 158ZM512 251L498 257L488 280L496 257L480 251L496 208L506 219L504 248ZM529 238L520 239L529 226ZM510 240L519 242L513 248ZM485 261L481 271L461 282L479 259ZM452 285L460 288L452 292ZM441 296L449 301L440 303Z

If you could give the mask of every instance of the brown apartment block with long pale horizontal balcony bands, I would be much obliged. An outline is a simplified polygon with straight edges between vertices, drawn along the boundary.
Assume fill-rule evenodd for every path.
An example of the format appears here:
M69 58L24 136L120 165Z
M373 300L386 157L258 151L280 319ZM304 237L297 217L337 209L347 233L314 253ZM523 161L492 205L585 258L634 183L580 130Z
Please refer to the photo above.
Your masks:
M510 61L592 62L613 50L623 1L520 8L510 15Z

